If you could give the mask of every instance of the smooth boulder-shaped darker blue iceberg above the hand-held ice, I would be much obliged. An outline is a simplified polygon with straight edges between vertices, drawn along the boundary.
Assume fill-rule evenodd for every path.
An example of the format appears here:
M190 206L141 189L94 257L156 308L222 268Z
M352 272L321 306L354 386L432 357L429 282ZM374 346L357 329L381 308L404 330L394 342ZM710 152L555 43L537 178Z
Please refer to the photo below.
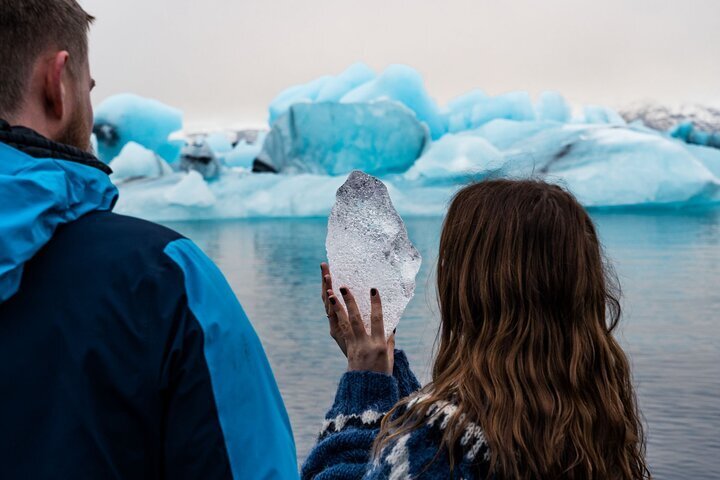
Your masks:
M273 125L255 170L402 173L428 142L427 129L395 102L298 104Z

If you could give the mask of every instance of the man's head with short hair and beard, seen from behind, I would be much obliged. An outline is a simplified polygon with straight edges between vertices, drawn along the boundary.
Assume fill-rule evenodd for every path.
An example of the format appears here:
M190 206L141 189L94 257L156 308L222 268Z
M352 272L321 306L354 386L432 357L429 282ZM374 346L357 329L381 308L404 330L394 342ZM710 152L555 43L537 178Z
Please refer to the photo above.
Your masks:
M75 0L0 0L0 118L89 150L93 20Z

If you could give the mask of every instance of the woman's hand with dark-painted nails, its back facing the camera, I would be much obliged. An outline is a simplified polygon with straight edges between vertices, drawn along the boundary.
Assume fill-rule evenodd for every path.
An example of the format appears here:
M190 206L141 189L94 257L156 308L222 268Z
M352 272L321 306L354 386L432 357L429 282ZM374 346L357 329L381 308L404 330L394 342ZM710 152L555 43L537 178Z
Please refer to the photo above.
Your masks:
M365 325L355 297L347 287L342 287L340 293L347 305L347 311L338 301L332 289L328 289L327 298L336 319L339 337L345 346L348 359L348 370L371 371L392 375L393 352L395 351L395 335L385 340L385 327L383 325L382 302L377 289L370 291L370 335L365 331ZM332 335L332 323L331 335ZM340 341L333 336L340 345ZM342 349L342 346L340 347Z

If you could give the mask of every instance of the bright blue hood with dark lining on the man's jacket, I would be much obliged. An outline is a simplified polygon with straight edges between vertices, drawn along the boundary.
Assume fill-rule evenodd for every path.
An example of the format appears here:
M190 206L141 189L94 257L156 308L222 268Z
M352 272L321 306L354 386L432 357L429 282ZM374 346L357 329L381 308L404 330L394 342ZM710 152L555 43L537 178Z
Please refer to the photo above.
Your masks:
M93 155L0 120L0 303L20 287L25 263L66 223L112 210L111 170Z

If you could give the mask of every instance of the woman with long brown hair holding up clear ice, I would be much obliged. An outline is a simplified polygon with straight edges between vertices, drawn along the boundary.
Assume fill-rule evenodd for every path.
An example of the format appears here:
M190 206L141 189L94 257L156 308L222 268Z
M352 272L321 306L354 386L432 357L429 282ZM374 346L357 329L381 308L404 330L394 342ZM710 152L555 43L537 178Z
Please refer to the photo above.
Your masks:
M384 338L380 292L370 293L367 334L353 292L340 289L346 311L322 269L348 372L303 478L650 478L630 366L613 337L613 276L592 220L560 187L492 180L456 195L422 389L394 335Z

